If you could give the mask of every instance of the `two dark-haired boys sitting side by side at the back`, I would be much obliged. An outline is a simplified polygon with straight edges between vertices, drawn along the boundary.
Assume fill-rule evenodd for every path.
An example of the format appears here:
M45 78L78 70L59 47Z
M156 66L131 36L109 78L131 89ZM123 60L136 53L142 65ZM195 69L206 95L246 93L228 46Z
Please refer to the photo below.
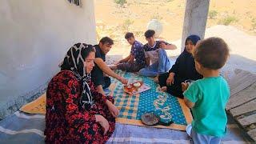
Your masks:
M131 45L130 55L117 62L115 66L110 66L112 70L138 72L149 77L170 70L171 64L166 50L175 50L176 46L164 41L155 41L154 30L146 30L144 35L147 43L142 45L134 38L133 33L126 33L125 38Z

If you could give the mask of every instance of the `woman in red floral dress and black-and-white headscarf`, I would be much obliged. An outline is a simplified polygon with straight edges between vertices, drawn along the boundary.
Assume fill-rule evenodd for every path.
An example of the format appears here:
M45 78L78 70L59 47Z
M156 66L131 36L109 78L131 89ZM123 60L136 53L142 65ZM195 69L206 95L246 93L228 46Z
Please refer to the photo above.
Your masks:
M94 46L75 44L46 92L46 143L105 143L119 110L90 79Z

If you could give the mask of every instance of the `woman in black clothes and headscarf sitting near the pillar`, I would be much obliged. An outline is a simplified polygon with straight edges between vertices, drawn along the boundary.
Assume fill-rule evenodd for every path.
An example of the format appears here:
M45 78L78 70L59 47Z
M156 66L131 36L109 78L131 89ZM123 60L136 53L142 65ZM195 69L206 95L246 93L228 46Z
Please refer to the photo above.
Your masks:
M190 35L186 38L185 50L180 54L174 64L169 70L169 73L160 74L158 83L161 90L167 91L178 98L184 98L182 94L182 82L187 79L197 80L202 78L194 67L194 58L192 50L200 38L197 35Z

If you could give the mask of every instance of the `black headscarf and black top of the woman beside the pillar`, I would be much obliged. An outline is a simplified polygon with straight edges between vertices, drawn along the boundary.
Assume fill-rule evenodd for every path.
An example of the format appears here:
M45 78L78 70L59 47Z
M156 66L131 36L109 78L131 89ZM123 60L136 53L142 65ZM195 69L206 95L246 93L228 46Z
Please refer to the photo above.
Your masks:
M196 45L200 37L198 37L198 35L190 35L186 38L186 42L188 40L191 40L192 43ZM184 48L182 54L178 56L174 66L172 66L169 72L175 73L175 79L177 78L179 82L184 82L186 79L197 80L202 78L202 75L198 74L195 70L193 55L187 52L186 48Z

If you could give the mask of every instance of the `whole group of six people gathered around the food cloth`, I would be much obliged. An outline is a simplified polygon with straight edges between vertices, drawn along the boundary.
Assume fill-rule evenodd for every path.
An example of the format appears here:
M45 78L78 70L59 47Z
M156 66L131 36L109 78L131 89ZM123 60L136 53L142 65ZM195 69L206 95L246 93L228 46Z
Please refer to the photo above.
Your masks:
M225 133L226 114L223 115L223 110L225 112L229 94L226 81L218 76L218 70L229 54L226 43L221 38L208 38L197 45L200 38L190 35L186 38L185 50L171 66L165 50L174 50L176 46L155 41L154 30L147 30L145 37L147 43L142 45L135 40L134 34L127 33L125 38L131 45L130 55L114 66L105 63L106 54L114 44L111 38L104 37L95 46L77 43L68 50L60 65L61 71L51 79L46 91L46 143L105 143L110 138L119 110L114 106L114 99L104 90L110 86L109 76L127 84L126 78L114 73L113 70L117 69L156 77L161 90L178 98L185 97L186 106L194 107L194 120L198 119L198 123L192 123L194 142L200 142L202 135L218 138ZM198 81L188 86L184 83L186 79ZM207 95L211 99L202 98L209 93L209 88L204 85L210 83L214 86L216 82L218 86L214 89L217 92L210 91L211 94ZM222 90L222 95L217 98L218 89ZM207 102L214 97L217 103L214 107L208 106ZM200 106L195 106L198 103ZM219 116L222 120L217 129L207 127L210 119L200 121L207 114L202 113L207 107L211 110L209 114L214 113L211 118Z

